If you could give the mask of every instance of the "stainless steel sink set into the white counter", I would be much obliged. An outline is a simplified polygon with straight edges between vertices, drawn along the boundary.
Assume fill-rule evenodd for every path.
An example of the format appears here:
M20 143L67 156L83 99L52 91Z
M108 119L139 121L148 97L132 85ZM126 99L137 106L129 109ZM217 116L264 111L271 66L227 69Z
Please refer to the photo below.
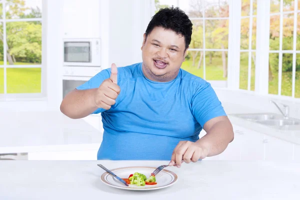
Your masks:
M252 121L268 127L280 130L300 130L300 119L284 117L276 113L242 113L231 114L232 116Z

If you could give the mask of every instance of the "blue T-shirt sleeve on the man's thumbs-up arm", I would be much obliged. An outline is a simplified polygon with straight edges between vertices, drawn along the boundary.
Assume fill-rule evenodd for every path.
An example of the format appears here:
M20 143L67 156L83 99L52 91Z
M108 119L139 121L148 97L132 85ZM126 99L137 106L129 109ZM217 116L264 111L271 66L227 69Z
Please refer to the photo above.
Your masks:
M92 89L92 88L97 88L100 86L100 84L103 82L103 80L109 78L110 76L110 68L109 69L104 69L101 70L99 73L91 77L88 81L84 82L83 84L79 85L76 87L78 90L84 90L84 89ZM98 108L95 111L93 111L91 114L97 114L105 109L103 108Z

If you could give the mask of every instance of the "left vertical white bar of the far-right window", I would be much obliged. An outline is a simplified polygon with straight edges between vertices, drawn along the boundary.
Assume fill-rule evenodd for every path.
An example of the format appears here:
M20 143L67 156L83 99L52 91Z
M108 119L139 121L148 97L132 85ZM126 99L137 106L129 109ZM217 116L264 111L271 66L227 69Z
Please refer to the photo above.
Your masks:
M278 95L281 95L282 82L282 35L283 35L283 0L280 0L280 23L279 23L279 59L278 59Z

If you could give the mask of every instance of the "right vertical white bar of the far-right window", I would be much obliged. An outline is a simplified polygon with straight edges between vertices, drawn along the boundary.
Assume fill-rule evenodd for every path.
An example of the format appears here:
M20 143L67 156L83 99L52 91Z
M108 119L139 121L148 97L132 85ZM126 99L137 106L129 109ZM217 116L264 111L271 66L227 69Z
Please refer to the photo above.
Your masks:
M293 52L292 52L292 79L291 79L291 96L295 97L295 80L296 80L296 44L297 44L297 8L298 1L294 1L294 26L293 26Z

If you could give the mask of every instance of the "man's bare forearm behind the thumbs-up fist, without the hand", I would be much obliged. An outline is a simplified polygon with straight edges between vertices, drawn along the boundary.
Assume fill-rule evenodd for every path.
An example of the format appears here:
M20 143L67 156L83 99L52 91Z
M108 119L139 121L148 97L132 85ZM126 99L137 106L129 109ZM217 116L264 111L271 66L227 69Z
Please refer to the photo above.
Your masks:
M94 89L77 90L69 92L60 104L60 111L70 118L82 118L98 107L94 101Z

